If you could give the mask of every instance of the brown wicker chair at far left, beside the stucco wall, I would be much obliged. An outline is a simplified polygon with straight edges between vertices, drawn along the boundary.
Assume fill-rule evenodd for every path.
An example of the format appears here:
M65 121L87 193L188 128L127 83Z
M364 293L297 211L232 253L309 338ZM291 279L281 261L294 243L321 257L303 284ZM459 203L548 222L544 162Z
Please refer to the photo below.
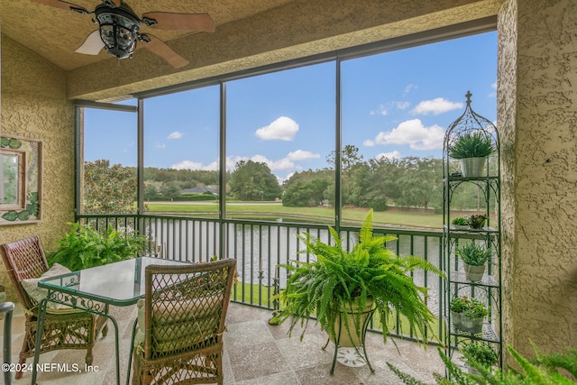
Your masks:
M48 262L37 236L2 244L0 254L2 254L8 276L24 310L26 330L19 361L19 363L24 363L27 358L34 356L38 302L26 293L21 282L26 279L39 278L48 270ZM40 353L60 349L86 349L86 363L91 365L96 335L100 330L103 336L106 335L105 324L105 316L95 316L71 308L49 310L44 321ZM18 371L14 378L18 380L22 376L23 371Z

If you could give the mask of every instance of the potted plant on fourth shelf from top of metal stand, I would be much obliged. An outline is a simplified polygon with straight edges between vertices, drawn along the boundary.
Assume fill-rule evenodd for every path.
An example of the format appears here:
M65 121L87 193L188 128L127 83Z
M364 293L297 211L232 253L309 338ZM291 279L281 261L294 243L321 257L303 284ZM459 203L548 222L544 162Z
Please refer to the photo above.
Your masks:
M477 335L482 332L483 319L489 314L487 305L477 298L453 298L449 305L455 329Z

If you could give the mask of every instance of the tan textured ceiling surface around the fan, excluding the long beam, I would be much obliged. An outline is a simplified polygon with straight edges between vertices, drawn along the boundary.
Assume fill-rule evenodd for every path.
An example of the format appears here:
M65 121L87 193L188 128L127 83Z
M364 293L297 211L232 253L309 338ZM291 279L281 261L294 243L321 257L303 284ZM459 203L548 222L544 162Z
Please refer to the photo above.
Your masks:
M226 23L252 17L294 0L129 0L126 2L139 17L147 12L182 14L210 14L216 29ZM94 10L100 0L68 0L88 11ZM105 50L98 55L75 52L87 35L97 29L92 15L83 15L60 8L41 5L32 0L0 0L2 33L26 48L50 60L61 69L78 69L110 56ZM194 32L152 30L142 26L142 32L151 32L160 40L169 42ZM137 49L142 50L142 48Z

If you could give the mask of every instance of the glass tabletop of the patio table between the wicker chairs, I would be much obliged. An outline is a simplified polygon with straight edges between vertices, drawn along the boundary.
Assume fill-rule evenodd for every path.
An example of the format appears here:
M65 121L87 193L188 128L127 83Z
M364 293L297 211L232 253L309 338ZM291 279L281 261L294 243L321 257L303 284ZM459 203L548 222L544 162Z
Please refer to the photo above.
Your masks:
M144 297L144 270L148 265L189 264L184 261L139 257L41 280L38 286L117 307Z

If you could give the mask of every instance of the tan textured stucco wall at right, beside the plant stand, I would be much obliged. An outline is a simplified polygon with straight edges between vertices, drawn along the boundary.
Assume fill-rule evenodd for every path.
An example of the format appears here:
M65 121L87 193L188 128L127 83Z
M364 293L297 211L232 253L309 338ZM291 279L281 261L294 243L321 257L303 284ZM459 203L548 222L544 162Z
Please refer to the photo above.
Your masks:
M506 343L577 347L577 2L499 14Z

